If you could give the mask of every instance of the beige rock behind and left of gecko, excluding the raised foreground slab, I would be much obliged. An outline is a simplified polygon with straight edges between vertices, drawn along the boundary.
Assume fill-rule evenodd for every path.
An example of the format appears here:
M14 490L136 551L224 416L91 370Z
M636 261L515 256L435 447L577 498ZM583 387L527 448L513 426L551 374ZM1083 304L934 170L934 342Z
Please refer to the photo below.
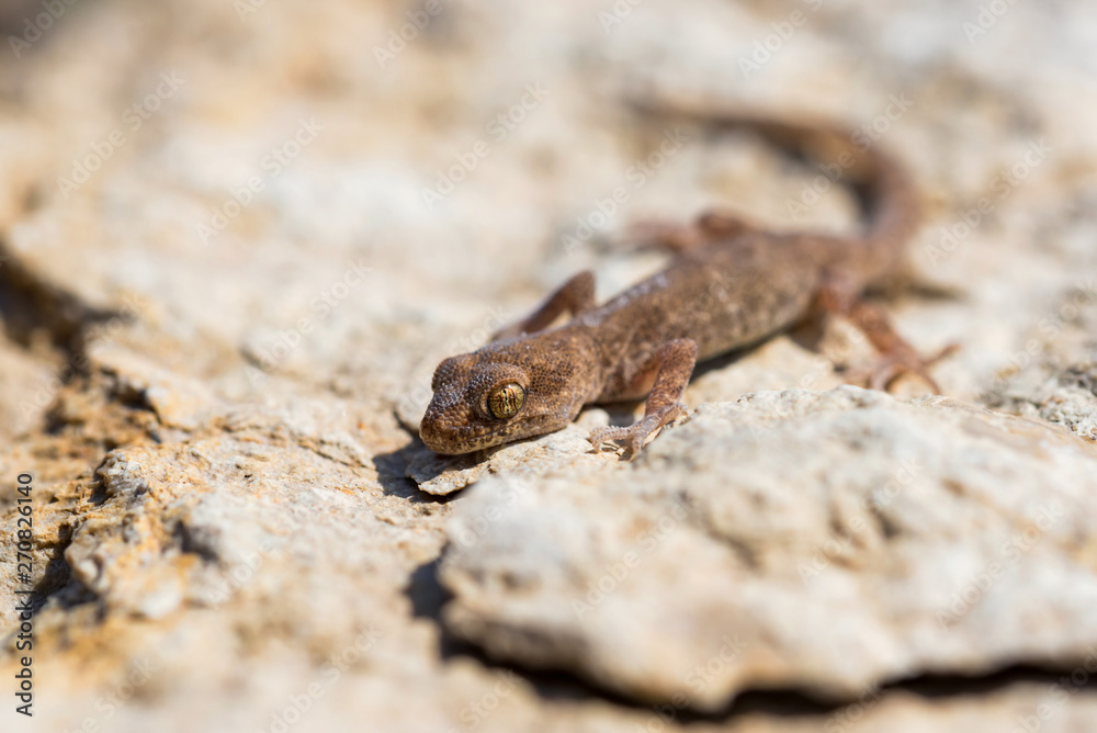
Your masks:
M683 722L444 651L429 568L453 503L399 453L439 359L583 268L606 297L660 267L614 247L630 224L856 226L811 165L627 99L829 117L886 147L927 214L887 307L924 353L961 343L945 392L1097 437L1085 0L34 0L2 3L0 31L4 508L19 472L43 492L33 730ZM762 354L692 402L840 382L813 363ZM1082 386L1049 402L1071 369ZM279 728L362 634L353 679ZM142 659L160 672L115 699ZM470 712L491 695L506 712ZM912 696L871 725L1021 714L1000 689ZM835 723L815 704L685 722Z

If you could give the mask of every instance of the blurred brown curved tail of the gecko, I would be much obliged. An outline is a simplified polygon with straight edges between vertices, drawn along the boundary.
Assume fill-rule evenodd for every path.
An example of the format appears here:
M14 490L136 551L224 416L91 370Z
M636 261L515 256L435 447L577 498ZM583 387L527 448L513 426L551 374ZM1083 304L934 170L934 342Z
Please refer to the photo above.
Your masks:
M815 161L832 181L857 196L863 233L851 245L871 275L895 268L921 223L921 206L906 166L878 142L823 120L792 122L757 111L722 110L663 100L630 100L646 115L671 117L709 129L747 129L798 157Z

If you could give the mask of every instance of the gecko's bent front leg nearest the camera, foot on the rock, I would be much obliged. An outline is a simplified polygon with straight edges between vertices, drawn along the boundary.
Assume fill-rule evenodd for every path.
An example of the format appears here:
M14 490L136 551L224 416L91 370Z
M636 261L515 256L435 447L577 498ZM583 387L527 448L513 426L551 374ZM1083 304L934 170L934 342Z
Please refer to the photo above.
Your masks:
M653 432L687 415L689 409L682 404L682 394L697 363L697 343L692 339L674 339L667 341L651 360L637 372L637 382L651 379L655 372L655 383L652 393L644 405L644 417L627 428L607 427L590 432L590 442L595 452L602 449L607 440L626 440L629 449L635 456L644 447L644 441Z

